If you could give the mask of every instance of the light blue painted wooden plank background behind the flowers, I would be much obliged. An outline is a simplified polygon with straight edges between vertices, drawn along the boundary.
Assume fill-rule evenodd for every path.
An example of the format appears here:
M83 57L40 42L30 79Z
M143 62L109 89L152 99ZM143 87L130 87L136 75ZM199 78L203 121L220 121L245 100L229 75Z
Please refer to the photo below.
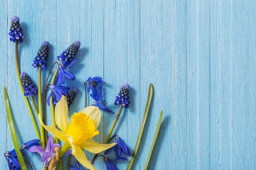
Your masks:
M70 115L84 106L83 82L88 77L104 77L105 100L115 112L119 86L130 84L132 105L122 113L115 131L131 151L148 85L154 85L134 170L144 167L161 109L163 122L148 169L256 169L255 0L0 1L0 87L8 88L20 143L36 134L17 83L14 43L8 36L14 15L20 17L25 37L19 45L21 71L34 81L37 69L31 64L44 40L51 44L44 79L55 57L81 41L79 63L70 68L76 80L68 85L80 89ZM2 90L1 96L3 154L13 144ZM102 114L98 142L106 139L114 117ZM92 159L93 154L86 154ZM36 170L41 169L39 155L29 158ZM116 164L125 170L127 162ZM0 167L7 168L3 156ZM96 168L106 169L102 159L97 159Z

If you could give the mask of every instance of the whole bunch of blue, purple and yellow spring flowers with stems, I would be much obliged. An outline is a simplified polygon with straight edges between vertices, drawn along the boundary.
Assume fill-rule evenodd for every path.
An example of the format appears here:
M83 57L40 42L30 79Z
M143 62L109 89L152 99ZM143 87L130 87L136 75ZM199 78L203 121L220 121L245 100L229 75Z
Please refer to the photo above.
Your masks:
M12 113L9 108L9 98L6 89L4 88L6 113L9 126L12 127L10 130L15 147L15 149L4 153L9 169L27 170L28 165L33 170L33 164L29 161L26 154L36 153L41 155L44 170L55 170L57 166L59 166L60 170L63 170L64 167L61 158L64 155L69 156L68 161L65 162L66 170L69 167L72 170L81 170L81 165L90 170L96 170L93 163L99 156L103 158L107 170L116 170L114 161L127 161L126 158L122 157L123 154L131 157L131 152L125 142L117 134L112 134L116 122L122 112L122 108L128 108L131 105L129 97L130 86L128 83L123 83L120 86L119 93L114 102L114 105L119 105L119 111L113 121L113 125L108 133L107 139L105 140L105 144L99 144L92 138L99 134L97 127L101 120L101 111L114 113L107 107L107 103L104 100L106 93L103 94L103 85L105 84L105 81L101 77L89 77L84 82L85 108L74 113L71 116L70 122L68 121L68 110L73 102L76 102L75 98L79 89L77 87L67 87L65 86L65 82L67 79L75 80L74 74L68 71L68 69L78 61L75 57L79 52L81 43L79 41L73 42L73 44L56 57L58 62L56 61L53 63L49 70L47 79L44 82L44 88L42 88L41 86L43 84L41 74L42 71L47 68L49 42L44 41L42 43L32 62L32 68L38 69L38 82L36 85L26 72L23 71L20 73L17 49L18 43L23 42L24 37L23 30L19 22L19 17L12 17L9 36L10 40L15 42L17 78L38 139L30 140L20 146L15 133ZM58 66L54 73L51 74L55 64ZM48 81L50 77L51 81ZM150 86L150 89L151 93L148 98L150 99L148 101L149 105L152 97L152 85ZM48 97L47 90L50 90ZM90 106L87 106L87 93L90 93L90 97L94 100ZM36 96L36 94L38 94L38 96ZM34 96L38 97L38 105L35 102L36 100L34 99ZM34 112L38 115L37 117L40 123L39 130L29 102L32 102ZM47 105L51 108L52 125L46 125ZM148 110L148 108L146 110ZM146 114L144 113L145 118L147 116L147 112L148 111L145 111ZM131 169L134 157L136 156L144 125L145 121L141 125L142 128L140 130L141 133L138 136L136 144L137 147L135 147L133 157L128 164L128 170ZM48 132L52 135L48 135ZM64 144L61 145L59 140L63 141ZM110 143L111 141L114 142ZM116 155L116 159L114 160L111 160L106 156L112 149L115 150ZM96 154L92 161L89 161L86 158L83 150ZM105 151L105 153L103 155L99 155L102 151ZM74 165L70 164L72 156L77 160Z

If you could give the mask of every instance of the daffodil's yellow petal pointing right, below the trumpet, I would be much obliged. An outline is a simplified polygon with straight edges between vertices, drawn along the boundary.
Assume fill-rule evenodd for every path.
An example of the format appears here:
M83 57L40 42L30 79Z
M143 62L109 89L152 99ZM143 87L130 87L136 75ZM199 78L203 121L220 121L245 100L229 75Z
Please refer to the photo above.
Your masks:
M93 139L87 139L84 143L79 144L79 146L85 150L88 150L91 153L100 153L104 150L107 150L113 146L115 146L116 143L111 144L99 144Z

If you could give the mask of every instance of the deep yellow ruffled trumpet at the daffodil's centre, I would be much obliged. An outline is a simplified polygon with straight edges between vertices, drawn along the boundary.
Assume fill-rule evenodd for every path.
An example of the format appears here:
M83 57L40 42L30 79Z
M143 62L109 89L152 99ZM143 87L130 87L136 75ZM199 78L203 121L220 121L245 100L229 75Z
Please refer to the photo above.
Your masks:
M73 144L79 145L99 134L94 125L94 120L89 118L85 113L74 113L71 116L67 135L72 136Z

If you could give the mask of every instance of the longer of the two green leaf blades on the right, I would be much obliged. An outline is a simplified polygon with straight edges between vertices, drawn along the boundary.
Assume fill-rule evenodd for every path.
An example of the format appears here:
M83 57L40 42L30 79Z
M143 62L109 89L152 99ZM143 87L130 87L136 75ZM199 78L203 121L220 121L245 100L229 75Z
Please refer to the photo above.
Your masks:
M132 164L134 162L134 158L137 155L137 151L138 151L139 146L140 146L140 140L141 140L143 130L144 130L144 127L145 127L145 123L146 123L146 120L147 120L147 117L148 117L148 110L149 110L149 107L150 107L150 104L151 104L152 96L153 96L153 85L150 83L149 88L148 88L148 100L147 100L145 112L144 112L144 115L143 115L143 119L142 119L142 122L141 122L141 125L140 125L140 131L139 131L139 134L138 134L138 137L137 137L137 142L135 144L134 151L131 155L131 159L129 161L129 164L128 164L126 170L131 170Z

